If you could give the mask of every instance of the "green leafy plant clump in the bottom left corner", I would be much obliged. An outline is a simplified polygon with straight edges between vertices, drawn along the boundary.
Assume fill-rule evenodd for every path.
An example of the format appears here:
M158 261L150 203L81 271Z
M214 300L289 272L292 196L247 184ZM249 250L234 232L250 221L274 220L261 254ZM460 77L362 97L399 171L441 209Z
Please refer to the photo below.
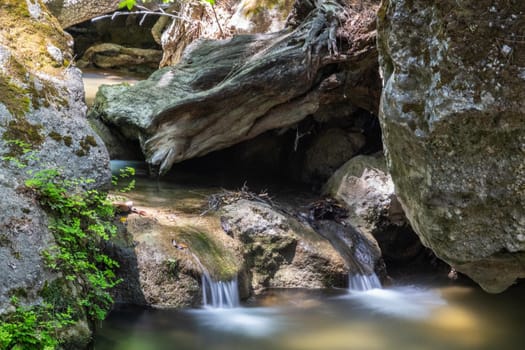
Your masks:
M60 343L58 332L74 323L70 309L57 313L50 304L23 307L16 297L11 303L16 311L0 323L0 349L53 350Z

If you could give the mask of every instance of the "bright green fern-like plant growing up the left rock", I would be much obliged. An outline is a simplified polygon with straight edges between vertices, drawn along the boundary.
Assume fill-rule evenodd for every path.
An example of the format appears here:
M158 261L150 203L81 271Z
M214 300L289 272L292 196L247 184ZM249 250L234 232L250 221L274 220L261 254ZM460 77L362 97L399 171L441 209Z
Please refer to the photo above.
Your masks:
M118 263L101 251L115 232L114 208L106 195L85 190L89 180L64 180L55 169L37 172L26 181L51 214L56 246L44 252L46 264L81 288L77 307L92 320L103 320L113 304L109 290L120 282Z

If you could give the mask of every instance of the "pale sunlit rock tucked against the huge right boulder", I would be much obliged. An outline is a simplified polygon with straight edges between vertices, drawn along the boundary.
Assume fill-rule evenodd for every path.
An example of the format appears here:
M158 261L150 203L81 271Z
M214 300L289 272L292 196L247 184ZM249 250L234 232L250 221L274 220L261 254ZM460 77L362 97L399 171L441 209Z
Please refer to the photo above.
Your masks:
M387 262L406 262L422 253L424 247L397 200L382 154L352 158L328 180L323 193L345 203L348 221L377 240Z

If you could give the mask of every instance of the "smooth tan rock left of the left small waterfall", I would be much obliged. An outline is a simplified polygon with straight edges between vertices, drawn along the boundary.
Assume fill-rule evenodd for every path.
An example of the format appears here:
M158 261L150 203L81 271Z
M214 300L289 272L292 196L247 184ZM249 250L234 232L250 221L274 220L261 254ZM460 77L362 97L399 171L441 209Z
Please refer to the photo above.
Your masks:
M139 203L143 204L143 203ZM201 275L228 281L243 265L219 219L138 206L107 247L124 279L115 290L122 303L155 307L199 306ZM173 217L176 219L173 219Z

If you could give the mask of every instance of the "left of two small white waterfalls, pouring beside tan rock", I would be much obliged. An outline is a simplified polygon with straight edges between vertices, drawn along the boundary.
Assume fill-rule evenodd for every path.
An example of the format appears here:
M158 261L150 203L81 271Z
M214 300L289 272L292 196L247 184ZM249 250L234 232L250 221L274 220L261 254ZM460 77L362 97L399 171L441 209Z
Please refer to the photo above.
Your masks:
M205 271L202 274L202 302L215 309L239 307L239 286L237 277L231 281L214 281Z

